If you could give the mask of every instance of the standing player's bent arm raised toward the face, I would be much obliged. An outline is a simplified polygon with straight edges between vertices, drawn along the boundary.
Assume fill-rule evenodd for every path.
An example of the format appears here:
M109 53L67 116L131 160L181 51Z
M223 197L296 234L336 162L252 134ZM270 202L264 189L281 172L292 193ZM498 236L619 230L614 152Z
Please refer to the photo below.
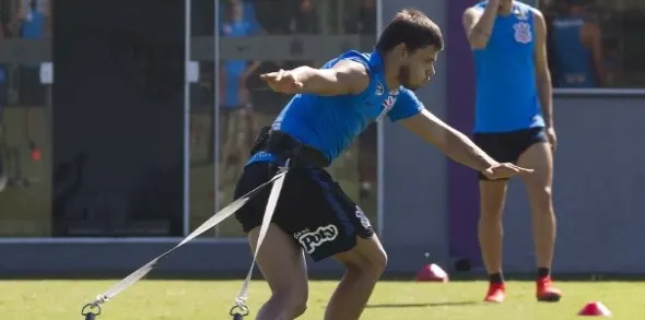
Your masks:
M490 1L483 13L477 8L469 8L464 12L464 29L473 49L483 49L489 44L497 16L497 8L499 1Z

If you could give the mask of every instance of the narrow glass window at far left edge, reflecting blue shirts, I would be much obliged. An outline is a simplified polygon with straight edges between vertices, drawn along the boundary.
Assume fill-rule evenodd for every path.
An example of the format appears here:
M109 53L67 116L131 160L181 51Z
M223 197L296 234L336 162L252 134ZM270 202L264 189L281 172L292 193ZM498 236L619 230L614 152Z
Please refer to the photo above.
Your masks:
M0 237L51 235L49 1L0 1ZM10 48L21 47L22 55ZM73 171L73 168L69 168Z

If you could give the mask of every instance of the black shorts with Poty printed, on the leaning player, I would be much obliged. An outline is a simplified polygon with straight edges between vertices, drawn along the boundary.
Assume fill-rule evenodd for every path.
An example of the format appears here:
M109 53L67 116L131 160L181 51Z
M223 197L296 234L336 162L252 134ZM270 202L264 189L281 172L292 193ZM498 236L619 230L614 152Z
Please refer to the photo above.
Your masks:
M246 166L235 188L235 199L271 179L278 167L270 163ZM245 233L262 223L271 188L255 194L235 214ZM324 169L292 168L286 174L272 222L293 237L314 261L352 249L356 236L371 238L370 220Z

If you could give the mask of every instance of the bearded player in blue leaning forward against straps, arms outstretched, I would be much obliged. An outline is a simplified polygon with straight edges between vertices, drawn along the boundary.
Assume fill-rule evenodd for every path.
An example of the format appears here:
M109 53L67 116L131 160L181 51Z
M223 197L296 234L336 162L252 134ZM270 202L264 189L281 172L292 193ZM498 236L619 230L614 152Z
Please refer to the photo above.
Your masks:
M452 158L490 179L531 170L501 164L466 135L430 114L412 93L427 84L443 49L439 28L422 12L403 10L385 28L374 52L345 52L321 69L300 67L262 74L275 92L295 94L251 150L235 197L269 180L289 158L272 224L258 264L272 296L256 319L295 319L307 303L304 252L315 261L333 257L347 272L325 319L356 320L387 256L363 211L324 169L372 121L387 116ZM255 250L269 189L236 213Z

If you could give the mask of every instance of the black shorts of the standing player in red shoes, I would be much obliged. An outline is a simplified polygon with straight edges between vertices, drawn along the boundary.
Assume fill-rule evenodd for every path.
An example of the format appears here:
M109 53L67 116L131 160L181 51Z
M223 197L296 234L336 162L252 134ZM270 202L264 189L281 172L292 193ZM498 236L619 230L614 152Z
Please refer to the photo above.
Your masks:
M474 133L473 142L501 163L517 163L519 156L535 143L547 142L544 128L537 127L511 132ZM479 174L480 180L489 180Z

